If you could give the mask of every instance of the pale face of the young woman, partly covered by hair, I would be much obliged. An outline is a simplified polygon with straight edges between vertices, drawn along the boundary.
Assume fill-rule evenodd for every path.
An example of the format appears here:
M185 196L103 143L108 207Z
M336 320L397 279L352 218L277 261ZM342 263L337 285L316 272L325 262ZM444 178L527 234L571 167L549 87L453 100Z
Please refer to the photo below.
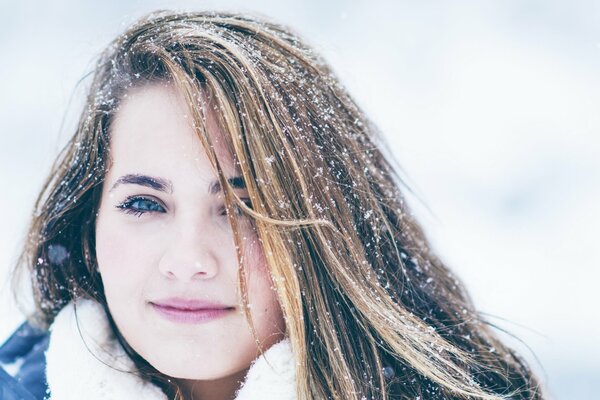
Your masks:
M223 192L182 97L152 84L124 98L96 222L108 307L127 343L160 372L194 380L243 373L259 350L242 313ZM221 132L207 121L213 142ZM248 193L230 154L217 156L236 194ZM238 216L248 302L264 349L285 330L262 247Z

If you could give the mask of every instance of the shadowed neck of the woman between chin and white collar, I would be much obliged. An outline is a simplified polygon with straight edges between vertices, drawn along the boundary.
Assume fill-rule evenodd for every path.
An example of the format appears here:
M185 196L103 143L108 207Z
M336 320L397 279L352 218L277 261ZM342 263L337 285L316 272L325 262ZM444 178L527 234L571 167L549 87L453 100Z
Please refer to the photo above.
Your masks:
M244 382L248 369L211 381L179 379L185 400L233 400Z

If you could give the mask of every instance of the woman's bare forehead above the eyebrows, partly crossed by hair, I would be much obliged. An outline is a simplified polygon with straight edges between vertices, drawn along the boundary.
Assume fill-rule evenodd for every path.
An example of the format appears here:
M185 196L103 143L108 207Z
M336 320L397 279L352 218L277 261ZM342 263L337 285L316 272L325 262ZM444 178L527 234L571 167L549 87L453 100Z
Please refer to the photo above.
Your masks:
M142 163L151 163L154 157L172 162L197 159L200 154L206 157L192 114L192 107L203 104L206 112L200 124L223 168L232 169L233 156L214 104L204 92L198 97L198 104L189 104L176 87L167 83L150 83L126 91L110 128L111 161L136 161L136 155L146 156L137 158Z

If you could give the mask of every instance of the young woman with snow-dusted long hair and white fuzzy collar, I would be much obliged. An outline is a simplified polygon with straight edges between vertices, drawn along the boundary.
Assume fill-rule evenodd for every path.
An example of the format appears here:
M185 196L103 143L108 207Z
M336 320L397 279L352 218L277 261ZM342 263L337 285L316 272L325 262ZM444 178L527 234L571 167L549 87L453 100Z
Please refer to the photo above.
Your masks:
M142 19L101 55L38 199L18 270L36 312L0 351L25 360L4 390L541 399L430 251L384 149L285 27Z

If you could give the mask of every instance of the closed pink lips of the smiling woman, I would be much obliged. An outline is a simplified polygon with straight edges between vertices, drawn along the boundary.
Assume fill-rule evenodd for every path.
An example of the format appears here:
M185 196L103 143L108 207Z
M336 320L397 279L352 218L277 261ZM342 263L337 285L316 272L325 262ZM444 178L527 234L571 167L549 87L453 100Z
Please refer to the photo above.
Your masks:
M220 303L180 297L151 301L150 305L161 317L183 324L212 321L234 310L234 307Z

